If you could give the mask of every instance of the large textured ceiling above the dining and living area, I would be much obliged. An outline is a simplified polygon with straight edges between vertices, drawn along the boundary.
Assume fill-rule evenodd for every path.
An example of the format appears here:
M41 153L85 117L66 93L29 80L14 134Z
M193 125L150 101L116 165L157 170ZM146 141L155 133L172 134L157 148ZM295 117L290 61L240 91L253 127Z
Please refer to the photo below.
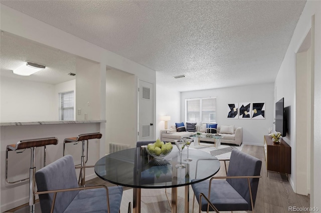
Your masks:
M180 91L274 82L302 0L1 0ZM185 74L185 78L173 76Z

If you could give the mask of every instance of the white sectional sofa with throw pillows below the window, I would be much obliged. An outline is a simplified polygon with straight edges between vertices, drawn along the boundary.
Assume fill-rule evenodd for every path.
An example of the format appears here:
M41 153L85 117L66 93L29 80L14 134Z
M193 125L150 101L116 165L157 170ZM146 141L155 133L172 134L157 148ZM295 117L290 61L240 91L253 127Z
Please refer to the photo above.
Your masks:
M222 128L221 128L222 127ZM200 132L206 134L206 124L203 123ZM237 144L241 145L243 142L243 127L235 127L234 125L218 125L217 132L222 135L221 143ZM174 142L174 140L182 139L195 135L196 132L180 131L178 132L174 126L171 129L161 130L161 140L167 142Z

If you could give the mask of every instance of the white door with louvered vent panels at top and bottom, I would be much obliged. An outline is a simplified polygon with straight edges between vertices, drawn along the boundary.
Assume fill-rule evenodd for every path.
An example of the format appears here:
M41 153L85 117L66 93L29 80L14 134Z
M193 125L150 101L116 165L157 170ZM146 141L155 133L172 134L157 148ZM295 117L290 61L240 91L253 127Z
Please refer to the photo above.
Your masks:
M138 141L154 139L153 84L139 80L138 87Z

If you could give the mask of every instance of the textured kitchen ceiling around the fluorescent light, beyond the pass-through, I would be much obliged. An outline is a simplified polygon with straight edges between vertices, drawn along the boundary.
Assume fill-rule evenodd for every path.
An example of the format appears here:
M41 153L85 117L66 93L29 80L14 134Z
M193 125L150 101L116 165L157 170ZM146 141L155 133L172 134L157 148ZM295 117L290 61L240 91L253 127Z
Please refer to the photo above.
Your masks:
M76 56L50 48L29 39L3 32L0 39L1 76L57 84L75 79ZM29 76L13 73L13 69L30 61L46 65L46 68Z

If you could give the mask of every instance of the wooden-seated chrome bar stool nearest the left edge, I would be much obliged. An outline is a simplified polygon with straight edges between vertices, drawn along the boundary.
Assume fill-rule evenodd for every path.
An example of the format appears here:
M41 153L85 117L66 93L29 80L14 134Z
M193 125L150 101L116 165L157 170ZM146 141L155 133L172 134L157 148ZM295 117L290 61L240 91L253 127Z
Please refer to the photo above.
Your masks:
M22 182L29 179L29 211L35 212L35 172L36 172L36 147L44 146L44 166L46 166L46 145L57 145L58 139L57 137L46 137L46 138L37 138L37 139L27 139L27 140L20 140L17 144L10 144L7 145L6 149L6 181L8 183L16 183ZM16 181L9 181L8 180L8 152L9 151L17 151L17 153L21 153L26 148L30 148L31 150L31 163L30 163L30 170L29 170L29 177L16 180Z

